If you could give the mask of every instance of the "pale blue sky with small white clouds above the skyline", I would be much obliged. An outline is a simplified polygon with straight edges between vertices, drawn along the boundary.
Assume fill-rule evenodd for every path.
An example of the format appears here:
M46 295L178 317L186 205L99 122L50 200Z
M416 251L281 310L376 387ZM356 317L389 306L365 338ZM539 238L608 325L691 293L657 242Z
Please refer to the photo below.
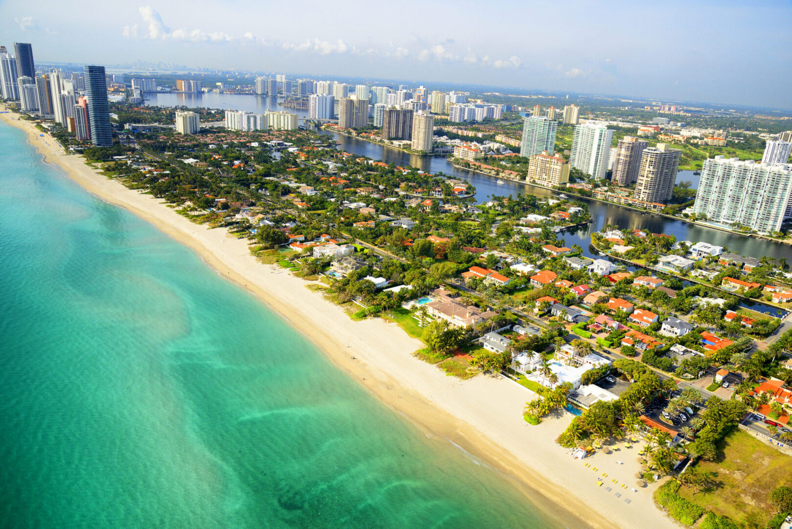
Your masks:
M790 20L787 0L6 0L0 44L31 42L42 62L164 60L788 109Z

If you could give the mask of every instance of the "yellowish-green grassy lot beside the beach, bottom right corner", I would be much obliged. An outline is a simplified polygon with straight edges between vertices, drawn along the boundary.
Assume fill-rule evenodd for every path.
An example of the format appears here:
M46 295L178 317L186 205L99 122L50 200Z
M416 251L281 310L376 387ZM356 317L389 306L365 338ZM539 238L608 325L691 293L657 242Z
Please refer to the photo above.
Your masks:
M681 487L680 496L729 516L738 527L763 529L773 515L767 496L779 485L792 483L792 459L741 430L729 434L722 444L722 461L697 463L714 473L717 488L695 493Z

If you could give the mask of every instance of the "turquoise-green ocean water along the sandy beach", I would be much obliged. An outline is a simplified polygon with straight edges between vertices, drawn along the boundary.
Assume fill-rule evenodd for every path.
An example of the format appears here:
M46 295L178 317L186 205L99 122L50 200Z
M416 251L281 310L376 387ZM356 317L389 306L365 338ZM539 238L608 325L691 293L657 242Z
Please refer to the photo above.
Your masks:
M0 527L561 527L0 122Z

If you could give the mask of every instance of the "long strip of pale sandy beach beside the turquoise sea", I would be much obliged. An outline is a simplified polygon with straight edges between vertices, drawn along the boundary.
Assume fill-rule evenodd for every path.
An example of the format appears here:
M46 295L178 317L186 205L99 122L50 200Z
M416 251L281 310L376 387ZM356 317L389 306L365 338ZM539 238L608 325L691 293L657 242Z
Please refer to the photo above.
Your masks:
M528 426L521 412L531 394L522 386L482 375L469 381L446 377L412 356L421 343L397 325L380 319L353 322L337 306L324 300L317 303L318 294L305 288L308 282L257 263L246 240L229 236L223 228L193 224L160 200L99 174L78 155L65 155L51 136L39 136L34 125L14 117L17 114L0 114L7 125L28 134L29 144L45 162L61 167L89 193L128 209L191 247L220 275L246 288L307 335L331 362L380 401L425 434L443 437L488 463L533 504L541 505L546 516L569 527L676 527L653 504L651 493L657 485L630 494L632 504L627 505L596 487L596 474L589 471L581 476L581 470L588 468L554 443L569 417L549 417L538 427ZM631 483L634 458L624 454L628 461L619 468L616 457L598 453L587 461Z

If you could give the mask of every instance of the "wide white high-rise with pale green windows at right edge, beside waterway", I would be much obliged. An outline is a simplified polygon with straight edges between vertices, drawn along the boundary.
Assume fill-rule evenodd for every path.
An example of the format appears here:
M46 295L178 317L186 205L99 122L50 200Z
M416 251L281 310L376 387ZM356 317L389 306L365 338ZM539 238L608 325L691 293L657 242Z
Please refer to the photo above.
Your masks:
M771 233L788 216L790 197L792 164L718 155L704 161L693 213L714 224Z

